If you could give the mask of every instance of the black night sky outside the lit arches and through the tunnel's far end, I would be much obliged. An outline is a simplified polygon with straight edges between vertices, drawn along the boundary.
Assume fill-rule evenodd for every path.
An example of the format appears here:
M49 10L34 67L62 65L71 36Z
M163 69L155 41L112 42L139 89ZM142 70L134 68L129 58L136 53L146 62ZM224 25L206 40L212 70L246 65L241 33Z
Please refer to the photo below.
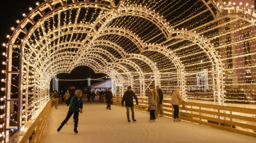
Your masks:
M3 52L6 52L6 47L2 46L4 43L8 42L8 38L6 37L7 35L12 35L13 31L11 30L11 27L17 27L18 23L16 23L16 20L22 20L23 13L30 13L29 8L35 8L37 5L36 3L39 2L39 4L42 4L44 0L0 0L0 20L1 20L1 27L0 27L0 54L1 54L1 70L6 70L6 66L2 64L3 61L6 61L6 56L3 56ZM90 72L89 72L90 70ZM4 73L1 74L1 79L5 77ZM57 75L57 78L59 79L69 79L69 80L74 80L74 79L87 79L87 77L91 77L92 79L98 78L98 77L104 77L106 76L103 73L97 73L90 69L87 66L80 66L72 70L70 74L68 73L61 73ZM0 80L1 80L0 79ZM18 78L17 78L18 80ZM99 81L91 81L91 84L94 84ZM59 81L59 89L64 89L67 87L67 85L73 85L73 86L78 86L78 87L86 87L87 86L87 81L78 81L78 82L64 82L64 81ZM5 83L1 82L0 87L5 87ZM52 88L52 85L51 85ZM3 95L4 92L1 92Z

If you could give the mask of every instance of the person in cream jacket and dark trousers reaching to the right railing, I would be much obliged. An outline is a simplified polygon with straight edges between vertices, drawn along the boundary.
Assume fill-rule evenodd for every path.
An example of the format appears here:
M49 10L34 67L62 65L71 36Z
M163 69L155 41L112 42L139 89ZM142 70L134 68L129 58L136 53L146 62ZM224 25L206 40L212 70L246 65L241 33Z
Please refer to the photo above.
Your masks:
M174 89L173 95L171 97L171 105L173 105L174 111L173 111L173 121L178 122L181 121L181 119L178 118L178 106L181 104L181 101L184 101L181 97L181 89L180 87L177 87Z

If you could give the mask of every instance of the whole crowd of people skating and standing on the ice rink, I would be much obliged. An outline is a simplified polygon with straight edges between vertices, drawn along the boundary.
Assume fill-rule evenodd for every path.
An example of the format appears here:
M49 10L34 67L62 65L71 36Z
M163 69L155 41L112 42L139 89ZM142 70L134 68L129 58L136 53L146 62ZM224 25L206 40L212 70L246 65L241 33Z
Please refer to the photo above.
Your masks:
M65 94L63 94L63 91L60 93L54 92L53 98L54 98L54 105L55 108L58 108L59 98L61 99L61 102L64 102L64 99L66 100L66 105L69 106L68 108L68 114L66 118L63 120L57 131L59 132L61 128L63 128L63 125L65 125L69 118L73 116L73 121L75 123L74 125L74 132L78 133L78 116L79 113L83 113L83 98L82 98L82 90L77 89L75 90L74 94L70 93L68 90ZM112 98L113 94L111 92L111 89L106 89L104 92L100 91L97 92L99 94L99 100L102 96L105 97L106 100L106 109L111 110L111 104L112 104ZM87 102L90 102L90 99L92 101L95 101L96 93L92 92L91 90L88 90L87 92ZM138 98L135 95L135 93L132 90L132 87L128 87L127 91L123 94L121 105L126 106L126 116L127 120L130 123L130 111L132 114L132 120L135 122L135 113L134 113L134 104L133 99L135 99L136 104L138 105ZM164 95L159 86L157 86L156 89L152 89L152 91L148 95L148 112L150 113L150 123L156 122L156 118L163 117L163 99ZM178 122L181 121L178 118L178 106L181 104L181 101L184 101L181 97L181 89L180 87L176 87L174 89L174 92L172 94L171 98L171 105L173 106L173 121Z

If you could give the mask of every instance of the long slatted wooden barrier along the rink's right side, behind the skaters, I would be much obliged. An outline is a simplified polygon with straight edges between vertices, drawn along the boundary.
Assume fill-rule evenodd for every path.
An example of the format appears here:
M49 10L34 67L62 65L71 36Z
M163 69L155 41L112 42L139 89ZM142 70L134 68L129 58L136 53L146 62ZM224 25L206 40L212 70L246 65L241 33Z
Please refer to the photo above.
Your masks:
M121 106L121 100L122 97L113 97L113 104ZM133 101L134 108L147 111L147 97L138 97L139 105ZM256 109L183 101L181 104L185 105L179 106L182 120L256 137ZM164 116L173 117L171 100L163 100L163 111Z

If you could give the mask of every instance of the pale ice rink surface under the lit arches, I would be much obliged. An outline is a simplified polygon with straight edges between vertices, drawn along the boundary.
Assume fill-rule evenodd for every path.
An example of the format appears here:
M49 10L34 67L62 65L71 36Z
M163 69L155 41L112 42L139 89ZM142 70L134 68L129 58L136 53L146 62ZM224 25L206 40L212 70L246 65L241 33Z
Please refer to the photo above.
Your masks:
M158 118L149 123L149 113L135 110L137 122L128 123L126 108L106 105L98 101L84 100L84 109L79 116L78 135L73 132L73 117L60 132L57 128L68 113L68 107L61 103L59 109L51 108L47 125L42 135L42 143L63 142L254 142L256 138L228 132L204 125L181 121L175 123L171 118Z

